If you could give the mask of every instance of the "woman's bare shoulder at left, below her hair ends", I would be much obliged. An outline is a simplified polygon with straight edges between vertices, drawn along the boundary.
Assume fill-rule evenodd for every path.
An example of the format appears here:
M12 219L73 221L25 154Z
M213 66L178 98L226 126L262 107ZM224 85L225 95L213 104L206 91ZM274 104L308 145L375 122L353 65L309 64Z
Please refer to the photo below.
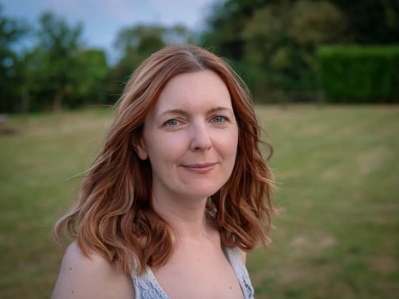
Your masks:
M134 298L130 277L99 254L84 255L76 242L65 251L52 299Z

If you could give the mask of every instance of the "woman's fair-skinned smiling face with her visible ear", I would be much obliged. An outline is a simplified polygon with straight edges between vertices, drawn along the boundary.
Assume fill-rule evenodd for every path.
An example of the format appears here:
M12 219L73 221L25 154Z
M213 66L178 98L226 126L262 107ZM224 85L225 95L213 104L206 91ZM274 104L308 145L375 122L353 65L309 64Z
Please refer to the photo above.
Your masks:
M227 87L215 72L204 70L166 84L146 116L136 151L150 159L155 194L206 198L230 177L237 143ZM208 163L214 164L193 166Z

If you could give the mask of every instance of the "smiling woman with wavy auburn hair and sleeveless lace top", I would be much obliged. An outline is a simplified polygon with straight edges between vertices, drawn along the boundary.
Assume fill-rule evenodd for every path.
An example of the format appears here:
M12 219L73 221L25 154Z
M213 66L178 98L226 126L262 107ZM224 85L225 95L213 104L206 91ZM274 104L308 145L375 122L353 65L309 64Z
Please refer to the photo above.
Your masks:
M170 45L132 74L75 206L53 299L253 298L273 174L249 92L222 59ZM263 200L266 195L266 200Z

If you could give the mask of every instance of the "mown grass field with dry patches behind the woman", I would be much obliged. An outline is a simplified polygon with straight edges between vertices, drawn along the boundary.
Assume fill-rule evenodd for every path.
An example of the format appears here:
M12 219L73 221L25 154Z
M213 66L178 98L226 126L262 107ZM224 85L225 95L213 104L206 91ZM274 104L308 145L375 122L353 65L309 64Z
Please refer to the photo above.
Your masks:
M256 106L282 208L247 256L255 298L399 297L399 106ZM51 227L101 146L110 111L12 117L0 136L0 298L49 298Z

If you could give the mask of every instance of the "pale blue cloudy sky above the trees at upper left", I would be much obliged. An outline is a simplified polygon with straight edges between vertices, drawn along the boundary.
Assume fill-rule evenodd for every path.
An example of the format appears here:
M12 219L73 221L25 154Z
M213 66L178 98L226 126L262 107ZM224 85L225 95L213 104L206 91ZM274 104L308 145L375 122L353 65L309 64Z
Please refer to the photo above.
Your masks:
M51 10L70 24L83 23L83 39L88 46L106 50L115 60L113 43L125 26L184 24L200 30L215 0L0 0L2 13L37 23L38 16Z

